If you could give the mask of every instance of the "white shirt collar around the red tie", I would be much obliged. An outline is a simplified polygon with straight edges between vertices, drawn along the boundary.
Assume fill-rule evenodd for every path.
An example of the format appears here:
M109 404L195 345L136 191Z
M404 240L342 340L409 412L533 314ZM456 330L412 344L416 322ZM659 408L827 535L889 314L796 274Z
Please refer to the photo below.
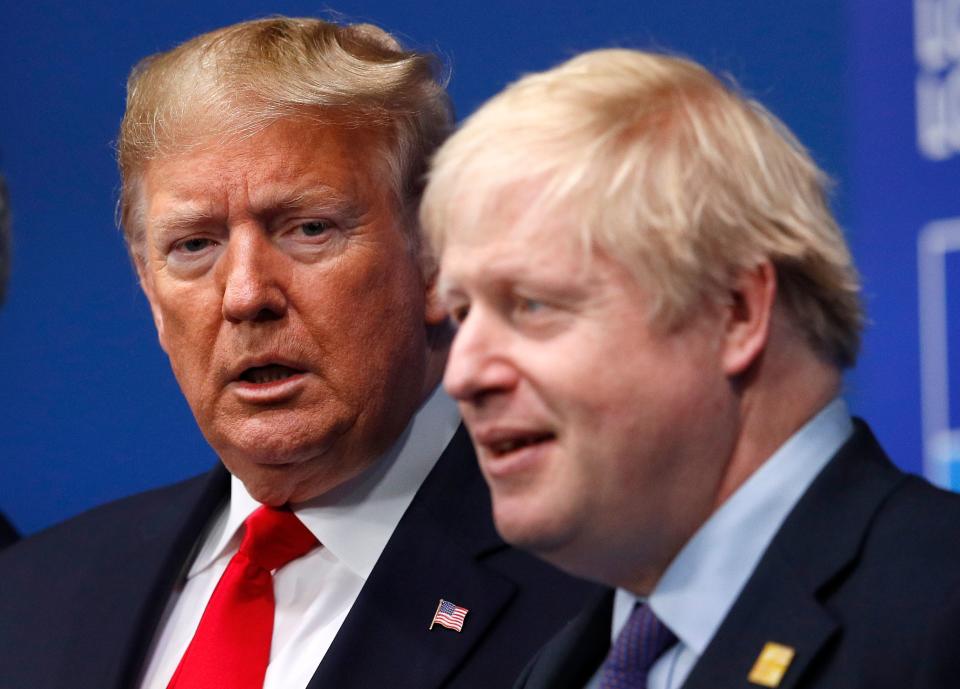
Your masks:
M438 386L372 467L324 495L293 505L294 513L334 557L367 579L459 425L456 404ZM231 477L230 502L204 539L188 579L239 547L240 527L259 506L243 482Z

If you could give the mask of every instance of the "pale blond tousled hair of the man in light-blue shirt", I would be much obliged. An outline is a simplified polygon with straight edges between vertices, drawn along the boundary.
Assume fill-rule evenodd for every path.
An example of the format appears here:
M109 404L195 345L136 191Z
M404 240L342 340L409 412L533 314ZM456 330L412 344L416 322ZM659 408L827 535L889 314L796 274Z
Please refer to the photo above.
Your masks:
M665 330L770 260L795 326L846 367L860 286L827 186L782 122L700 65L598 50L520 79L469 117L434 159L421 225L440 254L447 236L483 232L511 189L535 190L523 220L572 220L585 248L649 288L651 323Z

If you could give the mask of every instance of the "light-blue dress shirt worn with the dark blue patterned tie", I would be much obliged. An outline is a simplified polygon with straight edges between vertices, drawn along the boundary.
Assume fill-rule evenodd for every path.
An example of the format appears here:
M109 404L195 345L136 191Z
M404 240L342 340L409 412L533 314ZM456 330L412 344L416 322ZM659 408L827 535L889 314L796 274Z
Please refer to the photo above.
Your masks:
M764 462L673 559L647 602L679 641L651 668L649 689L683 685L787 515L852 433L847 406L837 398ZM612 640L637 602L643 599L617 589ZM586 689L598 686L595 674Z

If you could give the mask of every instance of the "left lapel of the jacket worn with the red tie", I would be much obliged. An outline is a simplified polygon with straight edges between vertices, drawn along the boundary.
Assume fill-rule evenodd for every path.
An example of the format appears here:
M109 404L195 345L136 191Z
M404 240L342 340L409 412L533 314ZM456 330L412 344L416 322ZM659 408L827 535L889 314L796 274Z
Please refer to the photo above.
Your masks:
M63 620L78 634L64 649L61 686L136 686L197 534L226 493L226 477L218 467L206 477L158 491L150 496L150 508L124 525L126 534L103 543L103 552L85 553L74 573L82 589L74 617ZM117 533L116 524L109 531ZM89 633L92 624L96 633ZM75 684L80 678L87 684Z

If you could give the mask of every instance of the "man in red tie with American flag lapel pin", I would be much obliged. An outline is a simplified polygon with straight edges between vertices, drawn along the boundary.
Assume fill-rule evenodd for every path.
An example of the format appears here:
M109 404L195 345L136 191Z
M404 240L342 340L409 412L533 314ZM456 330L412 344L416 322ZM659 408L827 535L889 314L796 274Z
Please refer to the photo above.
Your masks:
M134 68L123 230L226 470L4 552L0 686L486 689L576 611L583 582L497 537L439 389L417 207L451 120L434 58L371 25Z

